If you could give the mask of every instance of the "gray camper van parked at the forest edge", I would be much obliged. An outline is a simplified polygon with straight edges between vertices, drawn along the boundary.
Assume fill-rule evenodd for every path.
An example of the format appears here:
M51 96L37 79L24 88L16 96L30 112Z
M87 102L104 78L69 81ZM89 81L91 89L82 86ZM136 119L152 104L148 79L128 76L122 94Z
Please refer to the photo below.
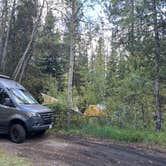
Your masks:
M19 83L0 75L0 133L21 143L30 133L43 134L53 120L49 108L40 105Z

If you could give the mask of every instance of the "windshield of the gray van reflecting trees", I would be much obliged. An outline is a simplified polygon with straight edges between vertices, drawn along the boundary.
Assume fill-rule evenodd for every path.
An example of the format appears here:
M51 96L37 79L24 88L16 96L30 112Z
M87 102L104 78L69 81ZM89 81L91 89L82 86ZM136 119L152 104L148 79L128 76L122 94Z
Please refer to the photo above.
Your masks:
M32 95L25 89L10 89L10 92L14 96L18 104L37 104L38 102L32 97Z

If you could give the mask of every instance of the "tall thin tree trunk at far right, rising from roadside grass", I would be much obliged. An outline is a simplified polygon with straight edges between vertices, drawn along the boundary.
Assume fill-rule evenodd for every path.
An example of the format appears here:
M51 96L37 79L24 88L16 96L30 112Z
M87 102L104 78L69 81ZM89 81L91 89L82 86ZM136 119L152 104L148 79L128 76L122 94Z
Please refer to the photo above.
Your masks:
M154 21L154 34L155 34L155 98L156 98L156 120L155 120L155 130L161 130L161 108L160 108L160 94L159 94L159 70L160 70L160 39L158 32L158 21L157 21L157 9L156 9L156 0L153 0L153 21Z

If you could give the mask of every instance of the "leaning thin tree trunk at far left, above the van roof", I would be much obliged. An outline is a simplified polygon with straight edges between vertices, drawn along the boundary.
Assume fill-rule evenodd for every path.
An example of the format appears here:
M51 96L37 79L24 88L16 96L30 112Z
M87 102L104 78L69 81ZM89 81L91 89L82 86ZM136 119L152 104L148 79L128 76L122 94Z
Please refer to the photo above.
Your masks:
M10 34L10 28L11 28L12 18L13 18L13 15L14 15L15 5L16 5L16 0L13 1L12 11L11 11L11 15L10 15L10 18L9 18L9 24L8 24L8 27L7 27L5 45L4 45L3 53L2 53L1 69L2 69L3 72L5 72L7 48L8 48L8 41L9 41L9 34Z

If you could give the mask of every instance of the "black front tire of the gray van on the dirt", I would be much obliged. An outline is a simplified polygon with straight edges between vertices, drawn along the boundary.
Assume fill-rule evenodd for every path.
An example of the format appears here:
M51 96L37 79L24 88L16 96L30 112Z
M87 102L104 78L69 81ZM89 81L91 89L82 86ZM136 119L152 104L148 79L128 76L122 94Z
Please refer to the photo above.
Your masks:
M10 139L14 143L22 143L26 138L26 131L20 124L13 124L10 128Z

